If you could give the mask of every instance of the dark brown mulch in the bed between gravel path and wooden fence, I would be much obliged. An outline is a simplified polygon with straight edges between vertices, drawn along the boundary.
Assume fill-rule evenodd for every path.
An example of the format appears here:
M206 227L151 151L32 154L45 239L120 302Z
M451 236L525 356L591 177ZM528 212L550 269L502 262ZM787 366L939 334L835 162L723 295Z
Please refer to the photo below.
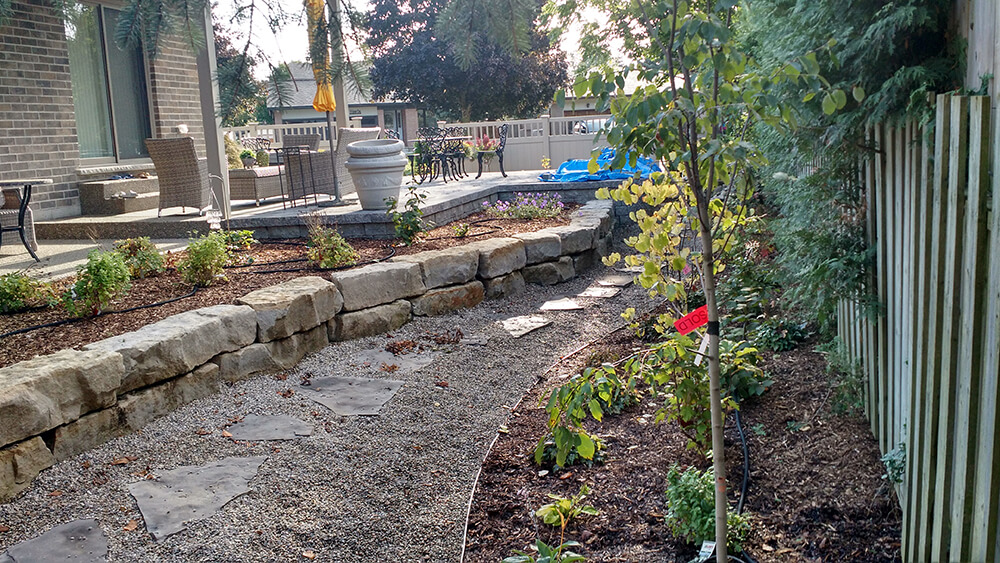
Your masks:
M635 344L616 340L603 348L622 354ZM831 412L824 366L811 345L768 357L775 384L743 407L752 468L745 510L754 522L746 548L761 563L899 561L898 502L881 480L877 445L866 422ZM684 449L679 428L651 422L655 407L648 399L589 428L607 440L603 465L539 476L531 460L546 427L538 398L561 381L553 378L529 393L509 434L487 457L470 514L466 560L498 561L536 537L558 544L557 530L531 514L550 502L548 493L569 497L587 483L593 492L586 504L601 513L571 525L565 539L583 543L588 561L690 561L695 547L674 540L663 523L664 480L672 463L708 463ZM726 442L735 505L742 452L732 415Z

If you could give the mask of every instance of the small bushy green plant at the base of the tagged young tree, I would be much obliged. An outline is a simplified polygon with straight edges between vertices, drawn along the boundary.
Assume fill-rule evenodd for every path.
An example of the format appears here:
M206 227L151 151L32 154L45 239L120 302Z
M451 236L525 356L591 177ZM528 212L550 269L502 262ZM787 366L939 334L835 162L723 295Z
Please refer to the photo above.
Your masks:
M743 542L750 533L750 518L727 512L729 548L743 551ZM676 464L667 472L667 513L664 521L674 537L699 544L715 539L715 474L709 469L699 471Z

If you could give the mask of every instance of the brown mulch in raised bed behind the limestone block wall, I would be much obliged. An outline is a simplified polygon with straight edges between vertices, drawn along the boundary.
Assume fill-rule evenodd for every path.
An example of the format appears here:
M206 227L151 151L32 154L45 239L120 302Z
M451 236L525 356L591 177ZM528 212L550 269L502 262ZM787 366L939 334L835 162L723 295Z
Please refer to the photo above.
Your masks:
M578 206L567 206L568 209L575 207ZM425 240L412 246L398 243L396 246L392 246L393 241L369 239L350 239L348 242L359 251L361 262L365 263L384 259L393 253L395 255L413 254L564 225L569 223L568 216L569 212L564 212L561 217L557 218L528 220L489 219L482 214L475 214L458 222L459 224L470 224L468 235L461 238L455 236L451 225L444 225L430 230L426 234ZM302 245L303 241L283 242L275 241L254 245L251 250L240 253L236 258L237 263L252 263L252 267L231 268L227 270L226 274L228 281L199 289L193 296L184 297L191 293L193 287L185 283L180 275L172 269L155 277L134 280L128 295L114 302L111 309L125 310L183 297L173 303L120 314L102 315L93 319L79 320L70 324L41 328L0 338L0 367L27 360L36 355L51 354L64 348L75 348L133 331L184 311L210 305L233 304L237 299L251 291L275 285L291 278L299 276L330 278L331 272L317 270L306 262L279 263L287 260L301 260L306 255L306 248ZM168 263L176 263L180 254L170 255ZM296 271L261 273L265 270ZM61 292L71 283L71 279L62 280L56 284L56 289ZM0 315L0 334L68 318L70 316L61 307Z

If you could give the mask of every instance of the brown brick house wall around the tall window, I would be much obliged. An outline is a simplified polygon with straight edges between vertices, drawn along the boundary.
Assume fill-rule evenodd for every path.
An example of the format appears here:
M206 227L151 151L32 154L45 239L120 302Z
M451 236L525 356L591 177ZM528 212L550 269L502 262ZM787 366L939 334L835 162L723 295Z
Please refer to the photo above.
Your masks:
M0 27L0 178L52 178L32 194L35 220L76 216L81 177L111 174L91 174L80 160L62 19L44 0L12 7L13 17ZM195 54L181 41L165 43L147 61L153 135L177 135L183 123L206 156ZM118 164L151 168L148 159Z

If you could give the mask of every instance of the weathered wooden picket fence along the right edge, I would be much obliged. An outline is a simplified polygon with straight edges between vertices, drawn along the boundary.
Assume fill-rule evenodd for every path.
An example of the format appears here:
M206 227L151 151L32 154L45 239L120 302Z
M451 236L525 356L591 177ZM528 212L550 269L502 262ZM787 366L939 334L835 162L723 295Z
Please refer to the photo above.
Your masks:
M1000 557L1000 119L942 95L933 129L880 126L864 166L869 280L839 306L883 451L905 446L904 561ZM871 320L876 318L874 322ZM996 468L996 471L994 471Z

